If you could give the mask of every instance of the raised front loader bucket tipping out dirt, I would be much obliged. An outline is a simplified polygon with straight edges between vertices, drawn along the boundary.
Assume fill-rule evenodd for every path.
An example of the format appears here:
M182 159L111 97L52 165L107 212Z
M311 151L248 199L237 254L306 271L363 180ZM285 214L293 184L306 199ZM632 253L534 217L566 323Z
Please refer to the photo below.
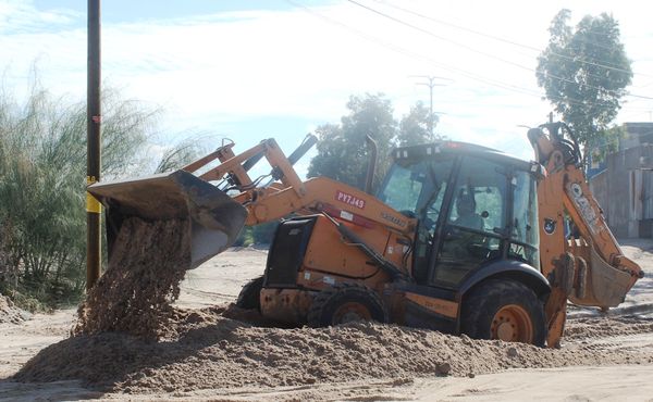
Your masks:
M190 261L184 269L192 269L229 248L247 217L243 205L185 171L98 183L87 190L106 208L110 257L125 219L176 219L184 226L181 230L189 231ZM180 253L187 251L180 250Z

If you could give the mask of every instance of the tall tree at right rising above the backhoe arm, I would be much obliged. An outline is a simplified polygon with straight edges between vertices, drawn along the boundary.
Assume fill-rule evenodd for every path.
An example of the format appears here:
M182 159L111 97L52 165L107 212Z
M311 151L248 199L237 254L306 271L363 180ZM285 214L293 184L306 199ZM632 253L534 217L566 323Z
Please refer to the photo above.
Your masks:
M538 58L537 77L546 99L587 149L605 142L632 71L618 23L611 15L588 15L576 29L568 25L569 17L570 11L562 10L553 18L549 46Z

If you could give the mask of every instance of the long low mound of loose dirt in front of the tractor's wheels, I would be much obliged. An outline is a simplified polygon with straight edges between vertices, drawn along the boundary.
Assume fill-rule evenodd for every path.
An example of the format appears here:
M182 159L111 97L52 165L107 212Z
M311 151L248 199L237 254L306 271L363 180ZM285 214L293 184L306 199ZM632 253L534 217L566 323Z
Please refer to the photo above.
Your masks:
M20 381L81 379L121 392L188 392L243 386L468 376L508 368L651 364L652 353L572 344L562 350L480 341L436 331L356 323L329 328L255 326L236 307L177 311L148 342L124 334L78 336L50 346ZM590 328L572 329L576 334ZM574 326L572 326L574 328ZM642 328L639 328L642 329ZM642 329L643 330L643 329Z

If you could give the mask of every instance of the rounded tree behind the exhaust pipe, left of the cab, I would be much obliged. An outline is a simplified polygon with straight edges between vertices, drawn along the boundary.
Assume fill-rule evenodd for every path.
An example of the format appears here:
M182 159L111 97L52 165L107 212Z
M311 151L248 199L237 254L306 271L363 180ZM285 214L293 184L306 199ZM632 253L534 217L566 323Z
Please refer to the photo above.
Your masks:
M324 124L316 129L320 138L318 154L310 161L308 177L326 176L354 187L364 188L369 150L366 136L379 146L379 161L374 187L390 165L390 150L397 123L390 100L382 93L352 96L347 102L349 114L341 124Z

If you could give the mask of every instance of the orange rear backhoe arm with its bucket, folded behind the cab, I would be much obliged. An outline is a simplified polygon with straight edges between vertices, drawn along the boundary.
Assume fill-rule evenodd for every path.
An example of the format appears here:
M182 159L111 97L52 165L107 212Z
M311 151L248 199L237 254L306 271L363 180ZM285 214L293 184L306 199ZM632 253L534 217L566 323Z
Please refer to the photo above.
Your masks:
M565 138L565 133L570 139ZM547 176L538 185L542 274L552 292L545 305L547 344L557 346L564 331L567 300L607 309L618 305L643 276L626 257L590 191L580 148L564 123L543 124L528 133L535 159ZM580 233L565 237L565 216Z

